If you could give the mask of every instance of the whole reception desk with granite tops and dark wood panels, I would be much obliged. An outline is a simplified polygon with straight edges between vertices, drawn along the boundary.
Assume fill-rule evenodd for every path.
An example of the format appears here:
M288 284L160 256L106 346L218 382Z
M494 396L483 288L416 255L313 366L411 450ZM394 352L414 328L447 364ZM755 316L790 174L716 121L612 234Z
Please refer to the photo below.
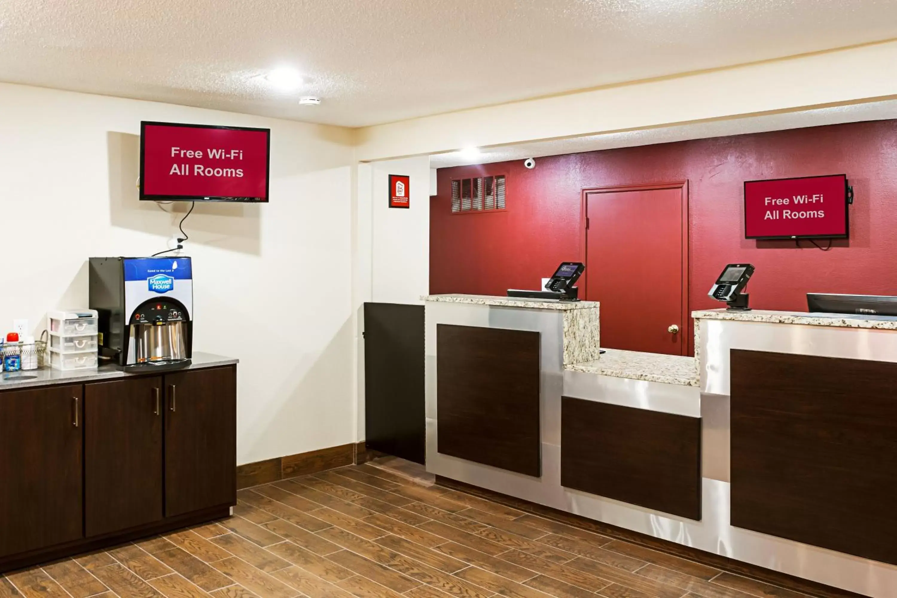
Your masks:
M897 598L897 318L694 312L598 354L596 303L430 296L427 470Z

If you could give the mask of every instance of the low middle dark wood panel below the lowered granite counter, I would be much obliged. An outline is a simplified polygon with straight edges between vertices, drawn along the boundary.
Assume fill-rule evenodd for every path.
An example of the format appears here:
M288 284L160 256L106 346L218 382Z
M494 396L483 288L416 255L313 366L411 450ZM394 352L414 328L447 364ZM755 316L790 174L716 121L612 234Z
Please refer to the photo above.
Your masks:
M701 419L561 398L561 485L701 519Z

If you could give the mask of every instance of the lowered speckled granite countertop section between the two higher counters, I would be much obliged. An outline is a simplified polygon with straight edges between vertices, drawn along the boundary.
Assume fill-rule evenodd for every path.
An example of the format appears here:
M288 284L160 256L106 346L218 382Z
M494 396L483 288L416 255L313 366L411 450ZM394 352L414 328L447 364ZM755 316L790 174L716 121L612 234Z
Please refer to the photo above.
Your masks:
M619 349L605 351L597 360L574 363L565 369L680 386L699 385L698 365L693 357Z

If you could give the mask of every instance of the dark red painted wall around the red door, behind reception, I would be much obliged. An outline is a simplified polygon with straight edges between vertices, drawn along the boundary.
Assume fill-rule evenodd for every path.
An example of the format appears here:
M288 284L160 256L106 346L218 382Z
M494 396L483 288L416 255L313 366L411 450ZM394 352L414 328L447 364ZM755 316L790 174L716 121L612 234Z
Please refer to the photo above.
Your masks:
M797 248L745 239L745 180L840 173L856 196L849 239L829 251L809 241ZM492 174L508 176L508 211L453 215L449 181ZM748 288L753 308L806 311L807 291L897 295L894 120L552 156L536 159L532 170L523 160L440 169L430 210L430 290L535 289L557 264L584 258L582 187L677 179L689 181L690 310L720 307L707 291L733 262L757 268Z

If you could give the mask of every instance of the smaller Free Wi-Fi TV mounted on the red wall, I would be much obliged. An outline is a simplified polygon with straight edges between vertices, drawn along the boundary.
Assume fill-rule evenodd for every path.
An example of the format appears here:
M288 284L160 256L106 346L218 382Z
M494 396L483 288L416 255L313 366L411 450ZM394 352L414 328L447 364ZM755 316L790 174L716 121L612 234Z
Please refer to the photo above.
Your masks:
M745 181L745 238L847 238L847 175Z

